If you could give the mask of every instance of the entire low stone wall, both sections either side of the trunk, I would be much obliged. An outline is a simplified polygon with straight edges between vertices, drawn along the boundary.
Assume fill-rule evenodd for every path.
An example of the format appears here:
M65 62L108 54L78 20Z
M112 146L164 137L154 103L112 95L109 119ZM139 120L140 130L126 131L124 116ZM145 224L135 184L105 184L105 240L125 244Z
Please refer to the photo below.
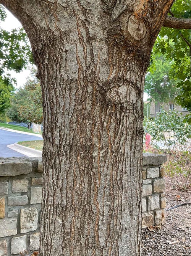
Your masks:
M165 221L164 155L143 155L142 227ZM0 256L39 248L41 158L0 158Z

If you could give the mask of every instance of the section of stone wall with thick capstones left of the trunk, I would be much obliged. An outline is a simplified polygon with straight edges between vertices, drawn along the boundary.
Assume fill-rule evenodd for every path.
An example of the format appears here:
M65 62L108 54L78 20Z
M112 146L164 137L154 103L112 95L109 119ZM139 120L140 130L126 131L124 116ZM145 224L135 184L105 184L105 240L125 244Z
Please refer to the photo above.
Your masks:
M39 248L42 160L0 158L0 256Z

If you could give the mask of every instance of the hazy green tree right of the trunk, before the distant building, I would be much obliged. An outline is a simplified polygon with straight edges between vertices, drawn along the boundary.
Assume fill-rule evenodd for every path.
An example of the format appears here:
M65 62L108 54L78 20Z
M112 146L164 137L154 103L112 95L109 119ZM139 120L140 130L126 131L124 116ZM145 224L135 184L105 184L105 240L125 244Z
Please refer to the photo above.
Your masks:
M165 55L161 53L152 55L152 64L146 74L144 88L151 97L150 100L159 103L175 98L177 81L170 75L172 66L172 59L168 59Z

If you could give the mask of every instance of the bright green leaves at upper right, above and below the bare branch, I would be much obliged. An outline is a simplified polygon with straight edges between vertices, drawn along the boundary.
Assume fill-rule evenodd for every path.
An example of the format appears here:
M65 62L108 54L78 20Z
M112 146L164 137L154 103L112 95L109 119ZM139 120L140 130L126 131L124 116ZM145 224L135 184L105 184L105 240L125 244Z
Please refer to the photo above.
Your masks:
M169 19L190 17L189 0L176 0L168 14ZM176 86L179 88L175 100L191 111L191 30L162 27L153 52L160 52L173 60L169 75L177 81Z

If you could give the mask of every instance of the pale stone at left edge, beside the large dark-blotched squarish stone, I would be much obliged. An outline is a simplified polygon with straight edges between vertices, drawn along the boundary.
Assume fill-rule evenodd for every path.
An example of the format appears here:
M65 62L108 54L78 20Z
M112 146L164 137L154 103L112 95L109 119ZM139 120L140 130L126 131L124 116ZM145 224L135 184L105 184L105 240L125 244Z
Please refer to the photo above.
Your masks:
M16 219L4 218L0 220L0 237L17 234Z

